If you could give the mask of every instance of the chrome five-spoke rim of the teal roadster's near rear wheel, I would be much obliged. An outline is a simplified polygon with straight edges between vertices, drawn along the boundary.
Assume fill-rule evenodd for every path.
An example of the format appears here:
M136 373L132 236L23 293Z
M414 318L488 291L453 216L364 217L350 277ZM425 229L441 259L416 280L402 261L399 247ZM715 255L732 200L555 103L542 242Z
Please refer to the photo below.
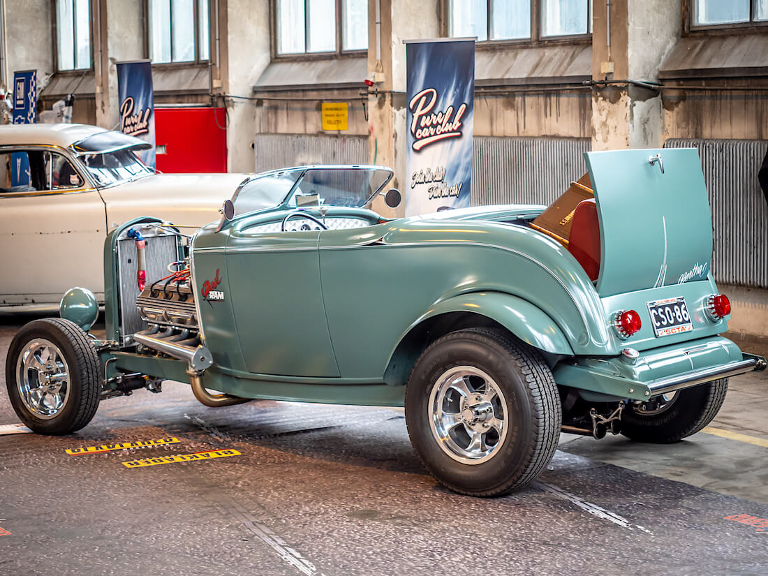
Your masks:
M481 464L504 444L505 399L491 376L474 366L442 373L429 397L429 422L439 446L454 460Z

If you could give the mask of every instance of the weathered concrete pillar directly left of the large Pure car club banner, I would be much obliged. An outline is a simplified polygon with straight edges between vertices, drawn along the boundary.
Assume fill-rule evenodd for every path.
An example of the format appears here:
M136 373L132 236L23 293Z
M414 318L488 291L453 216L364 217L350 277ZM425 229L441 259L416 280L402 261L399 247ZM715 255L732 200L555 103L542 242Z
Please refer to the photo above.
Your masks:
M379 5L381 45L376 38L376 14ZM408 194L406 175L406 46L403 40L439 38L439 0L369 0L368 2L369 75L382 74L374 85L378 95L368 98L369 161L395 170L390 185L398 188L403 202L395 214L405 214ZM380 55L377 60L377 53ZM391 214L380 199L374 210Z

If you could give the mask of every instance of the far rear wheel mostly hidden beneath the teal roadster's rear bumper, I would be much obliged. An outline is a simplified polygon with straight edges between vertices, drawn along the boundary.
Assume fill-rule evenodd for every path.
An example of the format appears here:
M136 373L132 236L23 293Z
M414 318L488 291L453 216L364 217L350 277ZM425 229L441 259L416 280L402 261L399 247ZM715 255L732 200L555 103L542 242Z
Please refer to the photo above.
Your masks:
M728 379L679 390L658 406L632 406L621 415L621 433L637 442L671 444L696 434L723 406Z

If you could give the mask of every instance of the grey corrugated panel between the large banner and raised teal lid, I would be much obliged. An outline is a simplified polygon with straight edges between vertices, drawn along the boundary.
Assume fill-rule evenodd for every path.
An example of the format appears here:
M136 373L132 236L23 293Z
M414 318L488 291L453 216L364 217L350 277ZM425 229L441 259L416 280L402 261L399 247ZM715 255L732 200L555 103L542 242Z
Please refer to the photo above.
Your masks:
M477 136L472 205L551 204L587 171L589 138Z

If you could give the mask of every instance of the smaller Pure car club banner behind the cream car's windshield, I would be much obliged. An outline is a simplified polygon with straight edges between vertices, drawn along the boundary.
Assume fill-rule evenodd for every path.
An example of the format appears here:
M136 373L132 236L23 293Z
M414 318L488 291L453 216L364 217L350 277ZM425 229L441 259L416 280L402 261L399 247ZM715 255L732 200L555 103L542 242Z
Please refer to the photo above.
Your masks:
M137 154L154 169L154 92L149 60L118 62L118 102L120 131L152 144Z

